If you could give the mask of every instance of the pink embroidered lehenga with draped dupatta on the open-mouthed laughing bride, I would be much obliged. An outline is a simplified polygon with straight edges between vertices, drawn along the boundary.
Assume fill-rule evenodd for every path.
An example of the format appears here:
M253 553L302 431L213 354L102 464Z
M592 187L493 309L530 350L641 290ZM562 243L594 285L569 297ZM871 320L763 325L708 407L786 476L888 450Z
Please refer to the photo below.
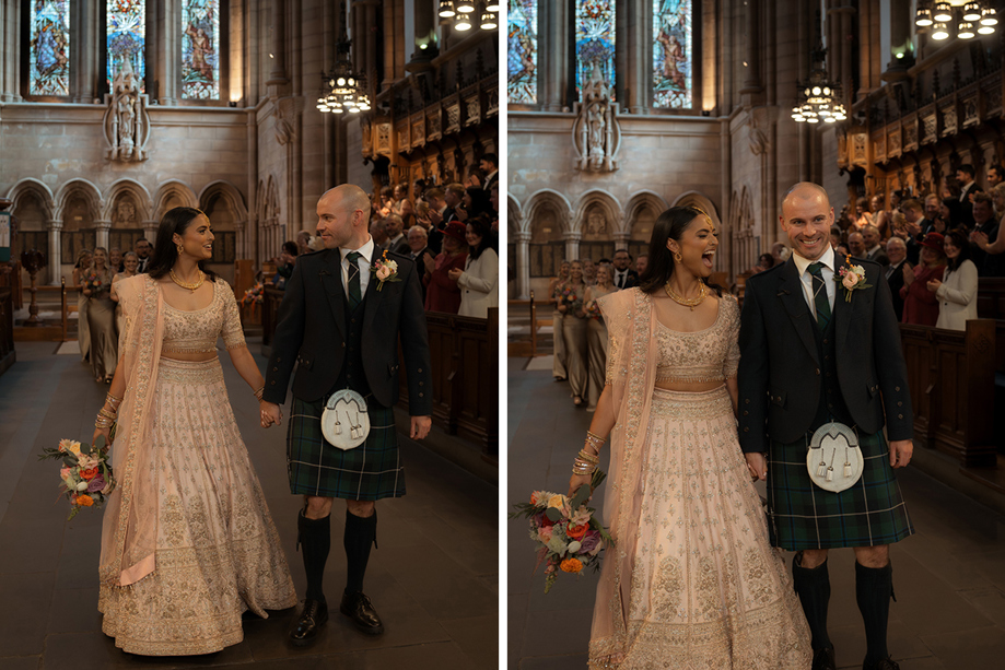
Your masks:
M659 324L639 289L599 304L617 412L604 512L617 546L597 587L589 667L808 668L809 628L768 542L726 387L655 387L736 375L736 301L724 296L715 324L693 333Z

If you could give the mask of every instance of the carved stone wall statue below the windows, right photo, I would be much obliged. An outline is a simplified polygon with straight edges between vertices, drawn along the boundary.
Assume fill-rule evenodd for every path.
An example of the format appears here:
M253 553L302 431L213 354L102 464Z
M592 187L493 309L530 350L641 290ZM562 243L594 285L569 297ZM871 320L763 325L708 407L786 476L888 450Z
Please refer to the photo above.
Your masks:
M610 87L598 66L594 66L589 81L583 85L583 99L573 105L573 111L576 114L572 131L577 154L575 168L587 172L618 169L617 155L621 145L618 103L611 101Z

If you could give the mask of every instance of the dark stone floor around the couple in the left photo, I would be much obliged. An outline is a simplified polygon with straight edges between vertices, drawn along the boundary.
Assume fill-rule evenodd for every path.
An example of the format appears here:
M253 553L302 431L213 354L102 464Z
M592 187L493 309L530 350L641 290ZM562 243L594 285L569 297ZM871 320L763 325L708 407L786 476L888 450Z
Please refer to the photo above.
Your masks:
M332 548L325 576L332 616L317 644L285 643L293 610L245 622L245 639L198 657L137 657L101 632L97 557L101 513L67 522L57 502L58 463L38 461L61 437L89 440L107 387L90 378L75 355L55 343L17 343L17 363L0 376L0 669L86 670L227 666L435 669L498 667L498 489L401 439L408 495L378 503L379 549L366 592L387 632L371 638L338 613L344 585L344 505L332 512ZM253 351L257 345L253 346ZM256 356L260 367L265 360ZM303 597L303 562L294 551L300 498L285 472L285 422L258 426L255 398L222 357L231 401Z

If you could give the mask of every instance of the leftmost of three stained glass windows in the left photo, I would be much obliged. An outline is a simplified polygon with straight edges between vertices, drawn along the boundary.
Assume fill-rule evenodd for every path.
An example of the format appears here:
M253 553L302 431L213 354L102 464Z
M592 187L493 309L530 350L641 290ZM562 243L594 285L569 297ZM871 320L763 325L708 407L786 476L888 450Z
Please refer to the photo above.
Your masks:
M70 94L70 3L32 0L28 91L32 95Z

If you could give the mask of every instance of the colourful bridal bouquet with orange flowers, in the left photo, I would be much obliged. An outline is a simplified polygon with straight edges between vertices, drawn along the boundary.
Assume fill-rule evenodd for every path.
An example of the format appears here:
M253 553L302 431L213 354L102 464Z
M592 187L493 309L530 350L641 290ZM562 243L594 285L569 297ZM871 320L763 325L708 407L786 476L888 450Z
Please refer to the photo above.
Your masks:
M112 439L115 427L112 428ZM101 507L115 491L115 478L108 460L108 448L112 440L105 442L98 435L94 445L81 444L73 439L60 439L58 447L43 449L38 460L58 459L62 461L59 477L62 479L60 493L70 501L69 521L83 507Z

